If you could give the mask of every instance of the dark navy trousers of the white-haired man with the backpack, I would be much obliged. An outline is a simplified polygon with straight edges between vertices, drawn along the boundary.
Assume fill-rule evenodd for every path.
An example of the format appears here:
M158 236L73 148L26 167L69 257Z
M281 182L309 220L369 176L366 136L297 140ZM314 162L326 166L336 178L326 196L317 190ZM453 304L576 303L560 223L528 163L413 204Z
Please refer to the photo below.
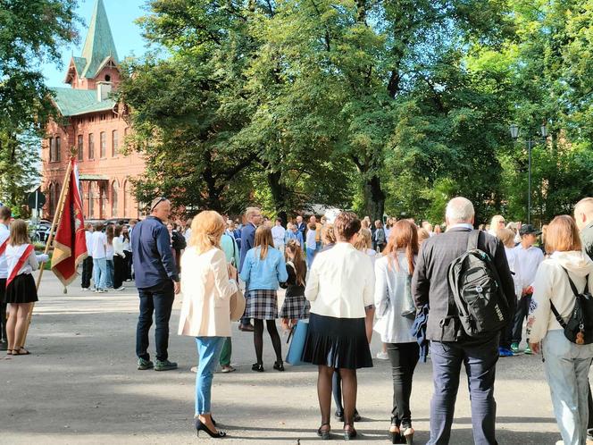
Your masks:
M430 341L430 357L434 395L430 401L430 441L427 445L450 442L462 364L472 402L473 441L476 445L495 445L497 402L494 400L494 380L498 335L477 345Z

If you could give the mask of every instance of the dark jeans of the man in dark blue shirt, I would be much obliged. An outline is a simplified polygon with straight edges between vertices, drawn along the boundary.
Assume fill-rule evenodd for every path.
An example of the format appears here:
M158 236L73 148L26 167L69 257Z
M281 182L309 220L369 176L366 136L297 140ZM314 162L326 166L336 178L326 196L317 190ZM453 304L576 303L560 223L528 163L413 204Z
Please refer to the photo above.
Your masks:
M147 288L138 289L140 297L140 315L138 315L138 327L136 329L136 355L138 358L150 359L148 354L148 332L153 324L153 312L155 313L155 345L156 359L166 360L169 356L169 319L171 318L171 307L175 294L173 282L165 281L162 284Z

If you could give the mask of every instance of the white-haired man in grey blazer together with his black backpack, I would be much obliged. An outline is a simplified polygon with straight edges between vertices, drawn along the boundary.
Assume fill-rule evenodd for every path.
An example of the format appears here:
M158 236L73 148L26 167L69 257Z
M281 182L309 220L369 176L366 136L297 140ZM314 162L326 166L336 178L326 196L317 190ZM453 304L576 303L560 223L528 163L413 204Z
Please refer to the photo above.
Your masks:
M498 337L512 321L516 297L505 248L492 235L474 231L473 218L468 199L451 199L447 232L424 241L413 273L416 307L430 306L430 445L449 443L462 364L470 386L474 442L497 443Z

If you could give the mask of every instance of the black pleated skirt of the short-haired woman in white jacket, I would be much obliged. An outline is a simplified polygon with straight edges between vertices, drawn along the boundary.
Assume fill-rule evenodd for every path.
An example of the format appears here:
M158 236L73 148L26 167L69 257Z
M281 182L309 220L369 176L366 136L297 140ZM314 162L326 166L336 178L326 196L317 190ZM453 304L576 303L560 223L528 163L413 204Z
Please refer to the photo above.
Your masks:
M311 314L302 361L332 368L372 367L364 318Z

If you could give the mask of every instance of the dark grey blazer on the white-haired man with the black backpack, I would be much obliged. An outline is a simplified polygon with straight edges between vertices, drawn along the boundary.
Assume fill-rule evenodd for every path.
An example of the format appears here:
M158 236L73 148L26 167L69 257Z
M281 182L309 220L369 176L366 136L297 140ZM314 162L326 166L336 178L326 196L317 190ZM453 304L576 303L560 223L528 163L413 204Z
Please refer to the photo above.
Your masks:
M472 231L465 227L453 227L442 235L426 239L418 255L418 262L413 271L412 295L417 308L430 306L429 322L426 329L428 340L469 341L464 335L461 323L446 319L447 313L457 312L453 295L449 290L447 272L449 264L467 251L467 241ZM506 261L503 243L485 231L480 231L478 248L493 258L502 284L505 298L514 314L516 297L511 271ZM492 336L497 335L493 333ZM481 339L489 341L489 339Z

